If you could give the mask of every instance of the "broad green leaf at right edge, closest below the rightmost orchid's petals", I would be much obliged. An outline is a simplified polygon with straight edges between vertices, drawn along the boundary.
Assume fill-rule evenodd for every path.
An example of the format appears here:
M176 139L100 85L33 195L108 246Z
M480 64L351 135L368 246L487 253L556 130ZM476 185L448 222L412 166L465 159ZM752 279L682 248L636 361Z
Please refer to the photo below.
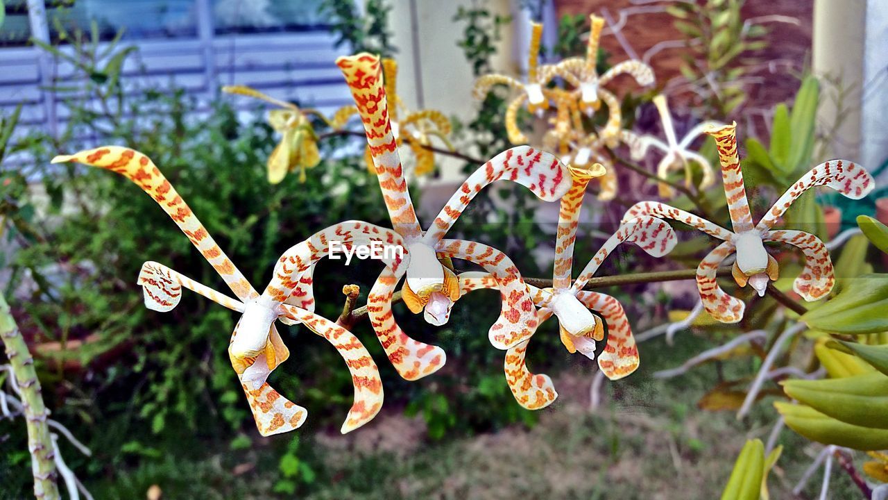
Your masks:
M876 334L888 331L888 274L847 278L842 292L802 316L809 327L832 334Z

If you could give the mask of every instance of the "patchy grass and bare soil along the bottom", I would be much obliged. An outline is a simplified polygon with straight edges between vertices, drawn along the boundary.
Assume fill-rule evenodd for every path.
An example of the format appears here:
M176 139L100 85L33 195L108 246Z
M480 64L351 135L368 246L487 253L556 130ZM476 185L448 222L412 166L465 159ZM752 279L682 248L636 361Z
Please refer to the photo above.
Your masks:
M679 335L672 347L662 340L645 344L642 368L609 383L606 405L594 412L588 408L591 364L580 363L557 377L559 400L529 429L514 425L432 442L424 437L421 419L390 408L347 436L304 433L297 460L310 464L312 473L289 488L310 500L718 498L744 441L766 440L774 412L766 399L745 422L733 412L697 409L696 401L714 384L714 365L670 381L651 377L707 345L689 334ZM737 375L729 372L745 366L722 368ZM781 443L786 449L769 487L772 498L791 498L820 446L792 431L781 433ZM289 498L281 493L289 488L281 487L279 458L256 439L248 448L218 451L197 462L173 456L145 460L91 486L97 498L144 497L152 484L165 498ZM816 497L820 481L818 472L803 497ZM830 497L859 496L834 468Z

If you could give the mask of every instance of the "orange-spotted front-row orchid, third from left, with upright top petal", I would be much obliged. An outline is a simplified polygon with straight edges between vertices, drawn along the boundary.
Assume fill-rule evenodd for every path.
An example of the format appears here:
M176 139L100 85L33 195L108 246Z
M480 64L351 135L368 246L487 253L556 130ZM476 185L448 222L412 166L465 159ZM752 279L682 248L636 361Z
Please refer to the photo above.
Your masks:
M583 195L591 179L605 173L600 164L590 169L570 167L574 184L561 198L559 229L555 242L555 263L551 288L539 289L527 286L534 297L537 327L543 321L555 316L559 320L561 343L567 351L579 351L589 359L595 359L597 343L605 340L604 326L592 314L597 311L607 322L607 343L598 356L599 368L611 380L630 375L638 368L638 348L632 336L629 319L622 305L614 297L597 292L583 291L607 256L624 241L632 241L648 254L662 256L676 245L675 231L669 224L654 217L638 217L624 222L613 236L592 257L591 261L572 283L574 244L583 207ZM463 273L459 275L460 292L465 294L479 288L495 288L496 281L483 273ZM511 347L505 355L505 377L512 394L522 407L539 409L547 407L558 393L548 375L534 375L527 370L525 352L528 337Z

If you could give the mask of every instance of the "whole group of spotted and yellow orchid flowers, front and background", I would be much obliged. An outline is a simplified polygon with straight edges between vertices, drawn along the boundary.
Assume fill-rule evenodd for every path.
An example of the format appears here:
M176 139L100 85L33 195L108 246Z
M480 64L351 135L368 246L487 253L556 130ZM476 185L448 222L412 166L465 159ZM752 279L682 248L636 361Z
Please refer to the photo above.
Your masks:
M527 369L525 352L536 330L552 316L558 319L560 339L567 351L578 351L597 359L602 374L608 378L622 378L638 367L638 349L620 302L606 294L584 290L616 246L630 241L654 257L668 254L676 245L676 235L664 219L689 224L722 239L724 242L700 263L697 283L706 310L719 321L736 322L742 317L744 304L725 294L716 281L718 267L725 258L736 254L733 278L738 285L749 284L764 294L769 281L776 279L779 272L777 262L765 250L765 243L797 246L805 254L806 265L796 279L795 290L806 300L821 298L829 293L833 284L826 247L811 234L773 230L773 227L790 204L814 186L829 186L849 198L861 198L873 188L872 178L860 166L845 160L827 162L806 173L754 224L743 184L734 125L701 124L677 141L666 100L659 96L654 98L654 103L662 117L666 142L622 130L619 102L604 85L621 73L630 74L641 85L650 85L654 82L653 71L640 61L628 60L599 77L596 62L603 20L591 16L591 21L584 59L572 58L540 66L537 59L542 28L535 25L526 83L501 75L479 79L475 87L478 95L489 92L496 84L521 91L506 111L510 140L521 145L480 165L425 229L410 197L399 146L406 141L416 156L416 173L427 172L433 163L432 151L428 148L430 136L440 137L448 144L448 120L437 111L408 113L403 109L395 93L396 65L392 60L380 60L368 53L339 58L337 66L345 76L355 105L340 109L332 120L321 118L339 130L353 114L361 117L369 165L377 175L392 229L347 221L318 231L281 255L273 278L261 294L228 259L163 173L145 155L132 149L106 146L56 157L53 161L95 165L129 178L155 199L225 280L235 297L221 294L157 262L145 262L139 273L139 285L143 286L149 309L173 309L185 287L242 314L230 337L228 352L262 435L296 429L306 415L305 408L284 398L267 383L272 371L289 357L289 350L275 327L277 321L285 325L305 325L327 339L345 360L353 379L354 403L342 426L343 432L369 422L382 406L383 387L377 365L361 341L342 325L314 312L315 264L333 252L348 253L356 246L400 248L399 252L381 257L385 269L372 286L367 302L370 323L400 376L416 380L431 375L447 359L440 347L416 341L398 325L392 302L401 282L401 297L408 310L422 313L425 321L434 326L448 322L452 308L464 294L482 288L496 289L502 305L496 322L488 329L488 338L496 349L505 351L506 382L521 406L546 407L557 393L550 377L534 375ZM554 86L557 77L569 88ZM305 168L318 164L317 135L306 117L306 113L313 111L300 110L248 87L226 90L281 107L269 114L270 123L283 136L268 160L269 181L281 181L294 169L304 175ZM607 125L599 133L586 133L583 115L594 115L601 101L608 109ZM558 157L526 145L527 137L519 130L516 118L518 110L525 105L533 114L544 114L551 102L554 102L556 116L553 127L543 135L543 146L556 151ZM399 117L402 117L400 121ZM608 156L604 149L622 141L630 145L634 157L641 157L653 146L664 155L658 167L662 176L682 166L688 171L688 162L694 161L702 166L703 183L709 184L715 178L709 162L688 149L702 132L709 133L717 142L733 230L725 230L714 222L659 202L641 202L629 209L618 230L574 278L574 246L587 185L593 179L602 181L603 198L613 198L616 192L613 165L605 161ZM551 287L527 285L511 259L492 246L447 238L472 200L496 181L512 181L543 201L559 201ZM457 276L453 259L472 262L484 271Z

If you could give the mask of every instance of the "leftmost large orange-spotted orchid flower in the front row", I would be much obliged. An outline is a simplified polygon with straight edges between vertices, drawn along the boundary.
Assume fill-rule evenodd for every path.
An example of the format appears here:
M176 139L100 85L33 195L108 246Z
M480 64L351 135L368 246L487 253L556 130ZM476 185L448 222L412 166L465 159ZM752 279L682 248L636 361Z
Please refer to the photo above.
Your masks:
M274 368L289 357L289 350L274 324L278 319L288 325L305 324L332 343L345 360L352 374L354 404L343 423L343 433L368 423L377 414L383 403L383 387L376 363L357 337L329 319L314 314L313 300L306 300L305 294L300 293L304 288L297 287L297 284L310 286L311 275L306 276L306 272L326 255L325 241L337 238L352 245L379 240L400 245L397 234L366 222L353 221L322 230L281 257L275 267L274 279L260 295L148 157L133 149L105 146L52 160L53 163L68 161L121 173L136 183L170 215L234 292L237 298L221 294L157 262L145 262L139 272L139 285L143 287L145 305L150 310L172 310L181 298L182 287L185 287L242 313L228 344L228 356L260 434L268 436L297 429L307 415L304 407L281 396L266 381ZM385 263L395 268L400 265L400 261ZM288 266L293 266L292 273L288 272Z

